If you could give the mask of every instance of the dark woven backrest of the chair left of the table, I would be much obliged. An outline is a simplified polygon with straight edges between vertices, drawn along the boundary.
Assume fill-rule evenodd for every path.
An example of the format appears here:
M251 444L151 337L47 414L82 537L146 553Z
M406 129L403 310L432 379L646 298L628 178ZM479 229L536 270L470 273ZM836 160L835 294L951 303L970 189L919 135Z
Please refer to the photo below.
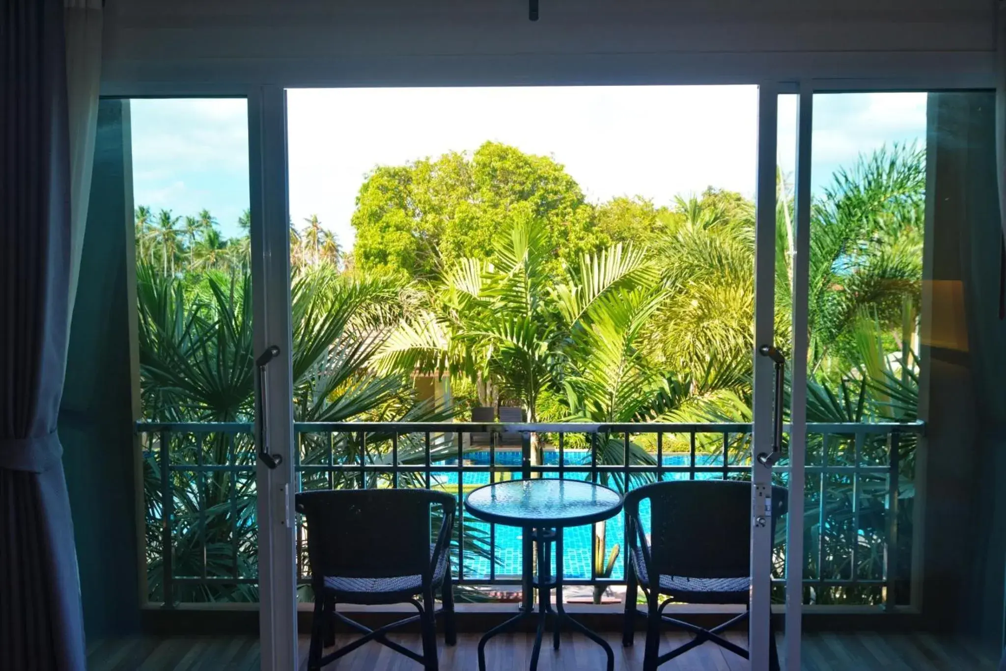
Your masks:
M453 520L455 499L427 489L318 490L297 495L315 580L428 576L432 506ZM450 540L450 539L448 539Z

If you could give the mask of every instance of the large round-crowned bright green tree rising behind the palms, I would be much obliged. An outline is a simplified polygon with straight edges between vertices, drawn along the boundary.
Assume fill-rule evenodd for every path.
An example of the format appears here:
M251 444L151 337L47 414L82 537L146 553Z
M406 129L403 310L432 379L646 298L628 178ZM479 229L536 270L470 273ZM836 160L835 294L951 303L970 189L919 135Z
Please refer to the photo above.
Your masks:
M495 233L532 218L543 225L552 271L604 242L561 164L487 142L470 157L451 152L376 168L357 196L353 257L362 270L432 280L460 259L491 258Z

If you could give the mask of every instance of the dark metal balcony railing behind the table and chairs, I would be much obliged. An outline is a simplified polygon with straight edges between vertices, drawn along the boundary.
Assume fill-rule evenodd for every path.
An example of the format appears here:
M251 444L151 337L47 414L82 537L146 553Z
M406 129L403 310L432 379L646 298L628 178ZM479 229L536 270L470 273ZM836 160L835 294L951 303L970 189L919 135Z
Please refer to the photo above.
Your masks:
M615 489L673 479L745 479L749 424L296 424L300 489L427 487L459 501L508 478L577 478ZM808 425L805 602L892 609L910 600L914 452L920 424ZM256 451L250 424L140 423L148 598L258 600ZM532 438L533 437L533 438ZM788 461L775 469L789 481ZM645 517L645 511L644 517ZM570 585L619 585L624 520L565 530ZM519 529L460 508L452 562L463 598L520 583ZM785 524L775 575L782 598ZM303 524L298 571L309 582ZM170 551L168 551L170 548ZM519 588L511 588L516 590ZM600 593L600 590L599 590Z

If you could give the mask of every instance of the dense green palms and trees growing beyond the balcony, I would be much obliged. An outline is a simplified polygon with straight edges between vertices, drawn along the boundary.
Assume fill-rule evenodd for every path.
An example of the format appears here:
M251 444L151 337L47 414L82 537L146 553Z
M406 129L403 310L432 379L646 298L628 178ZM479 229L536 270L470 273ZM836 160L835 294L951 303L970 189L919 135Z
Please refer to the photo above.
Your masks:
M861 157L813 203L808 421L914 418L924 209L924 153L910 146ZM351 222L356 241L348 254L317 216L291 225L299 422L444 421L493 403L520 405L529 422L750 421L754 206L740 194L710 187L667 206L639 197L595 204L551 158L486 143L472 155L376 168L360 188ZM253 417L249 215L237 224L242 234L225 238L206 210L185 217L136 210L149 420ZM790 341L793 245L793 196L781 174L781 343ZM417 374L449 377L453 402L421 399ZM532 440L540 462L551 438ZM630 458L653 464L651 440L632 437ZM687 452L680 443L687 440L668 436L664 449ZM735 440L731 454L744 459L747 438ZM422 463L417 441L402 437L395 445L401 462ZM387 464L390 446L390 436L304 434L299 458L306 465L361 458ZM168 476L161 473L165 447L178 466ZM599 436L594 447L602 463L625 459L622 437ZM721 449L719 439L697 447ZM152 596L162 589L164 477L175 492L174 574L254 576L255 460L246 430L151 436L146 448ZM811 436L808 459L885 464L887 449L881 439L857 445L852 436ZM899 514L902 528L910 528L912 439L898 450ZM245 469L197 472L185 464ZM371 485L386 484L367 477ZM808 570L825 579L880 575L882 479L856 486L847 477L832 479L824 488L808 482L808 510L826 491L828 520L808 517L806 546L828 548L820 560L808 550ZM609 483L635 484L614 474ZM303 482L358 484L356 474L343 480L323 470L305 472ZM473 529L461 535L466 551L485 552L486 539ZM900 538L910 542L909 533ZM610 570L603 538L597 554L599 570ZM246 582L201 583L185 594L176 586L176 597L254 599L254 580ZM817 603L879 598L873 588L808 595Z

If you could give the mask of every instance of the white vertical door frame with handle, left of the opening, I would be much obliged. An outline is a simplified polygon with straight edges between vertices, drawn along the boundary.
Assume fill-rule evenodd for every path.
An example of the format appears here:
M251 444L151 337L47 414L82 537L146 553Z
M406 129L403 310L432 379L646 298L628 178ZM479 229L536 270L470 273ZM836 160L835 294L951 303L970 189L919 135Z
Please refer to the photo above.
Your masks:
M261 668L293 671L297 668L293 335L287 94L282 87L262 87L248 94L248 171L256 356L274 345L279 348L267 367L264 397L256 392L256 441L260 423L268 416L266 443L269 454L280 461L270 468L260 459L257 469Z

